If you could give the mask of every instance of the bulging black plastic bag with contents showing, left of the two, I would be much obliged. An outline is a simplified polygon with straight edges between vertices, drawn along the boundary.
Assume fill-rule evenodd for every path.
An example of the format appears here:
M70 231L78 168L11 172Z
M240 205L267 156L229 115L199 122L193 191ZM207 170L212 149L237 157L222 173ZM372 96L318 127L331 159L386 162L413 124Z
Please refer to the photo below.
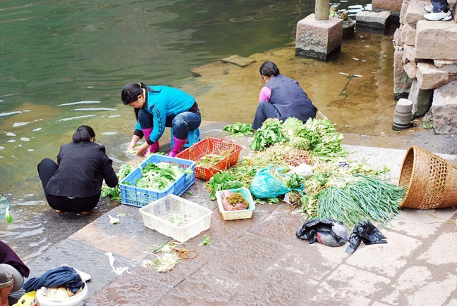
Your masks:
M338 221L310 219L298 229L295 235L310 244L317 240L325 246L343 246L348 240L348 229Z

